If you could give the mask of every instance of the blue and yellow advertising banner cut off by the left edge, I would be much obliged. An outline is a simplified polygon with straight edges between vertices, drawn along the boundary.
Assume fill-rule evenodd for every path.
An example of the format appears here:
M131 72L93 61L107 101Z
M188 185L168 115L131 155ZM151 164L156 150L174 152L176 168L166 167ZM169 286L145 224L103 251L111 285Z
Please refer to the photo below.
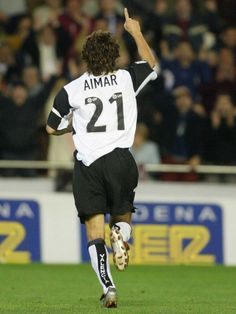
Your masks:
M0 199L0 263L40 261L39 204Z

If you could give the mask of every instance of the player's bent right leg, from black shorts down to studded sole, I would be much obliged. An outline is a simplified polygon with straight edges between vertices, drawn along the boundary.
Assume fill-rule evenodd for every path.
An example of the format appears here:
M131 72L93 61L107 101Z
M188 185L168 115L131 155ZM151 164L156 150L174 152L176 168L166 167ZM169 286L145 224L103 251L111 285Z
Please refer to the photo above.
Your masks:
M110 240L114 264L119 270L128 265L128 244L131 235L131 213L134 212L138 170L128 149L117 148L107 155L104 177L111 208Z

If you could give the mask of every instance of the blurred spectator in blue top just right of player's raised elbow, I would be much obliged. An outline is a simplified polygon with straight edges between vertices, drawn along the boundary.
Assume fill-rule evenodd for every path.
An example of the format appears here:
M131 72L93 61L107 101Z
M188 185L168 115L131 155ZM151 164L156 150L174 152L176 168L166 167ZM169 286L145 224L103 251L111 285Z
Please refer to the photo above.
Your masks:
M178 44L175 49L175 58L163 60L161 67L168 90L186 86L194 98L198 96L199 87L209 83L211 79L208 64L196 58L191 44L186 41Z

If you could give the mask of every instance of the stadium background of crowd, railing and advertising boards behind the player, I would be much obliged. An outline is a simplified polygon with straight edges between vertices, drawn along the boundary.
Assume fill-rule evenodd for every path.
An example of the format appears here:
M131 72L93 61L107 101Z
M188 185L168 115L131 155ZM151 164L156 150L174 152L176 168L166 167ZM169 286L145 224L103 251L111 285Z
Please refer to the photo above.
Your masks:
M236 265L230 0L0 0L0 264L88 261L71 195L73 144L48 137L45 123L57 91L85 69L80 52L91 31L116 36L118 67L137 59L124 5L162 68L138 97L131 264Z

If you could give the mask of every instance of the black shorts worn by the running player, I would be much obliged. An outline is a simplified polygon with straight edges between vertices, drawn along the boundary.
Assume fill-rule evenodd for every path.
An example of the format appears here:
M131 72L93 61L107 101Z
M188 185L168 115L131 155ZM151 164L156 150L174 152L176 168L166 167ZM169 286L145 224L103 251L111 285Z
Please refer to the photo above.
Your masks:
M134 212L138 169L130 151L116 148L89 167L76 160L73 194L81 223L95 214Z

